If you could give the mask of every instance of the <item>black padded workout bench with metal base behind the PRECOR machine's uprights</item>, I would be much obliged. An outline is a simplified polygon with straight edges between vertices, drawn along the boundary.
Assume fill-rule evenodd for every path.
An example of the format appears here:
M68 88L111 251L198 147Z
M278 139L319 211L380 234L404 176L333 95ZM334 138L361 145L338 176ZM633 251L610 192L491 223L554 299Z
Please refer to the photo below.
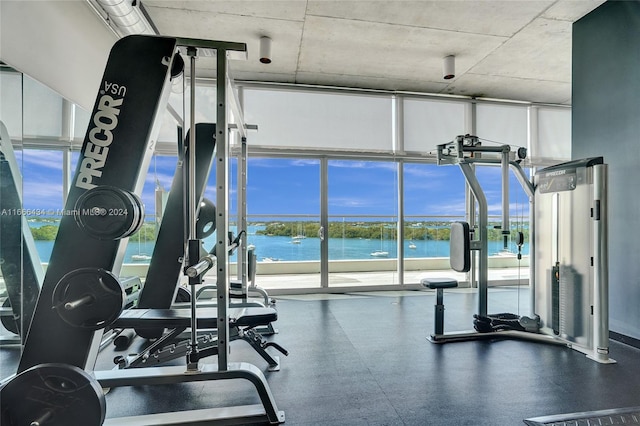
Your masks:
M284 355L288 352L275 342L268 342L254 328L267 326L278 319L278 312L272 308L244 307L229 308L229 340L243 339L269 364L270 371L280 369L279 357L271 356L265 349L273 346ZM197 308L198 330L208 330L198 336L198 349L202 357L217 355L218 327L217 308ZM158 338L149 347L137 355L117 357L120 369L144 367L160 364L185 355L189 349L189 340L179 335L191 327L191 309L129 309L122 312L113 323L115 328L126 329L162 329L169 331Z

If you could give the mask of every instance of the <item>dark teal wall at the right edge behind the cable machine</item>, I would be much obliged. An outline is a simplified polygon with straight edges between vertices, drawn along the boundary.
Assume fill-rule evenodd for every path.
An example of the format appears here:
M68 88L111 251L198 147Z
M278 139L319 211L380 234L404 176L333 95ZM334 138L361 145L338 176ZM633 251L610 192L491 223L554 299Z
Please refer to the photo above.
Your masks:
M572 156L609 164L611 331L640 339L640 2L573 25Z

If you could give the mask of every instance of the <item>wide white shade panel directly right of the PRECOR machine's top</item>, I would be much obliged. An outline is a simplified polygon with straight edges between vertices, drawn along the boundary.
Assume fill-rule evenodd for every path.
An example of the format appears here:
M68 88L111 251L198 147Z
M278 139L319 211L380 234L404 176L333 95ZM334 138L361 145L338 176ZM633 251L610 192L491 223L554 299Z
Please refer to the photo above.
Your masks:
M391 151L391 98L246 89L251 143L311 149Z

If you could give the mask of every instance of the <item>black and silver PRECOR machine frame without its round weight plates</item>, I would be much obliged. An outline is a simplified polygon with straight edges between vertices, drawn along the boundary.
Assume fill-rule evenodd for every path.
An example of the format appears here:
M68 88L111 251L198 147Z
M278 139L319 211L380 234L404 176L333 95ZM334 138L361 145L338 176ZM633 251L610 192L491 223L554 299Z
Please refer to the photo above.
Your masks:
M69 271L96 271L98 283L109 281L114 276L108 271L117 271L122 262L126 237L133 225L122 237L99 238L96 234L79 232L78 226L91 224L79 219L78 200L94 188L115 188L113 191L129 199L135 206L135 197L142 190L144 173L148 169L159 129L160 111L166 106L170 91L170 81L177 76L176 63L182 61L180 54L190 59L191 123L185 157L185 204L184 218L187 219L189 241L184 252L184 272L189 277L192 294L195 286L202 282L202 276L211 268L216 270L215 323L217 334L217 365L200 362L198 352L197 327L198 309L196 298L191 303L191 343L184 366L148 367L141 369L93 371L102 336L97 327L74 327L65 323L61 315L52 309L52 296L60 283L69 284L65 277ZM215 246L215 261L211 255L201 257L201 242L196 231L196 210L198 205L196 189L196 125L195 125L195 63L199 56L215 57L216 61L216 125L215 125L215 168L216 168L216 217L218 237ZM140 386L155 384L186 383L205 380L249 381L260 398L261 404L235 407L186 410L177 413L147 414L126 418L107 418L106 425L163 425L163 424L279 424L285 420L283 411L277 409L275 400L261 370L245 362L230 362L229 342L236 336L230 333L233 311L229 308L229 251L233 249L226 236L229 231L229 129L246 140L246 125L235 97L233 84L228 75L228 61L246 59L247 47L244 43L212 41L189 38L128 36L114 45L100 86L92 120L85 137L78 168L74 176L74 186L67 197L65 210L73 212L61 220L58 238L54 244L51 264L45 275L38 304L29 332L26 335L24 351L17 375L3 382L3 389L19 381L23 373L33 373L39 366L54 365L56 369L64 365L80 368L93 375L102 388L120 386ZM136 69L135 73L129 72ZM235 123L229 123L229 111L233 111ZM211 140L211 144L214 140ZM123 195L124 194L124 195ZM128 194L133 194L128 197ZM128 198L127 198L128 197ZM85 195L86 198L86 195ZM83 207L83 206L80 206ZM92 212L95 209L92 210ZM103 213L98 210L98 213ZM80 224L80 225L79 225ZM109 279L104 279L109 278ZM175 284L175 282L173 282ZM59 293L59 291L58 291ZM75 309L91 299L79 297L64 303L64 309ZM250 309L250 308L248 308ZM244 313L249 315L249 311ZM260 313L272 315L271 308ZM73 348L69 351L69 348ZM36 370L37 371L37 370ZM57 370L56 370L57 371ZM71 373L69 373L71 374ZM78 377L71 376L71 377ZM57 383L59 382L58 379ZM73 380L73 379L64 379ZM64 383L62 383L64 384ZM100 398L104 398L99 395ZM77 405L77 404L76 404ZM2 407L3 416L5 408ZM34 421L55 418L56 410L48 409L34 413ZM81 409L81 408L80 408ZM104 419L103 415L103 419ZM108 416L106 416L108 417ZM3 417L4 419L4 417ZM52 424L56 424L52 420ZM10 424L10 423L9 423Z

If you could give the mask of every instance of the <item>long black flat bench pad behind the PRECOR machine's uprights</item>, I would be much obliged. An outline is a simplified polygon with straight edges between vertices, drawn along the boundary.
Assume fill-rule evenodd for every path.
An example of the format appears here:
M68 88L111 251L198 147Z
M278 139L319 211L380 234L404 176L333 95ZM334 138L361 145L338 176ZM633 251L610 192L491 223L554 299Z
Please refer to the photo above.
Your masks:
M278 319L278 311L272 308L229 308L229 325L232 327L257 327L269 325ZM197 308L198 329L214 329L218 326L216 308ZM191 309L127 309L113 323L113 328L189 328Z

